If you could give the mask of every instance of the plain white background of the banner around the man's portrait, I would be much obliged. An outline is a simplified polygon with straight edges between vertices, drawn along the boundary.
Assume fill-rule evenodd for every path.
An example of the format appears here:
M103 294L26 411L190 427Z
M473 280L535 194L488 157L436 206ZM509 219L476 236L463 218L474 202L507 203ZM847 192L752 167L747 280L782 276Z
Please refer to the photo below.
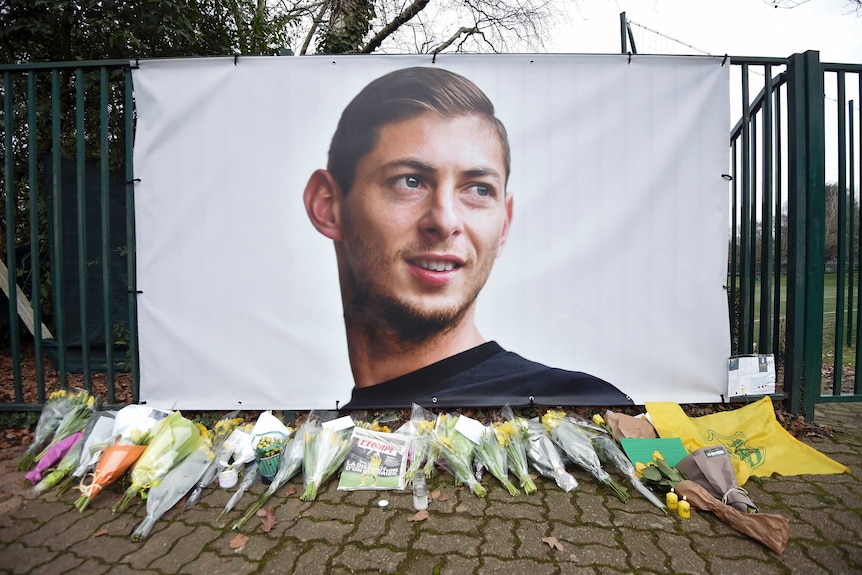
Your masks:
M438 55L141 61L133 72L142 401L343 406L333 242L303 190L371 80L472 80L511 144L513 219L481 334L635 403L727 390L728 68L708 57ZM433 406L426 406L433 407Z

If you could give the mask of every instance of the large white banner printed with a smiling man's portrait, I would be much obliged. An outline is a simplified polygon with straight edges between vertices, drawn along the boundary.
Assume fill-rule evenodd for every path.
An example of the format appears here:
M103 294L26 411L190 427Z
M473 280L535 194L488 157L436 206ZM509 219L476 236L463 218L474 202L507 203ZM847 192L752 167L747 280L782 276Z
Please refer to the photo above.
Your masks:
M720 402L728 68L641 55L140 61L141 400Z

